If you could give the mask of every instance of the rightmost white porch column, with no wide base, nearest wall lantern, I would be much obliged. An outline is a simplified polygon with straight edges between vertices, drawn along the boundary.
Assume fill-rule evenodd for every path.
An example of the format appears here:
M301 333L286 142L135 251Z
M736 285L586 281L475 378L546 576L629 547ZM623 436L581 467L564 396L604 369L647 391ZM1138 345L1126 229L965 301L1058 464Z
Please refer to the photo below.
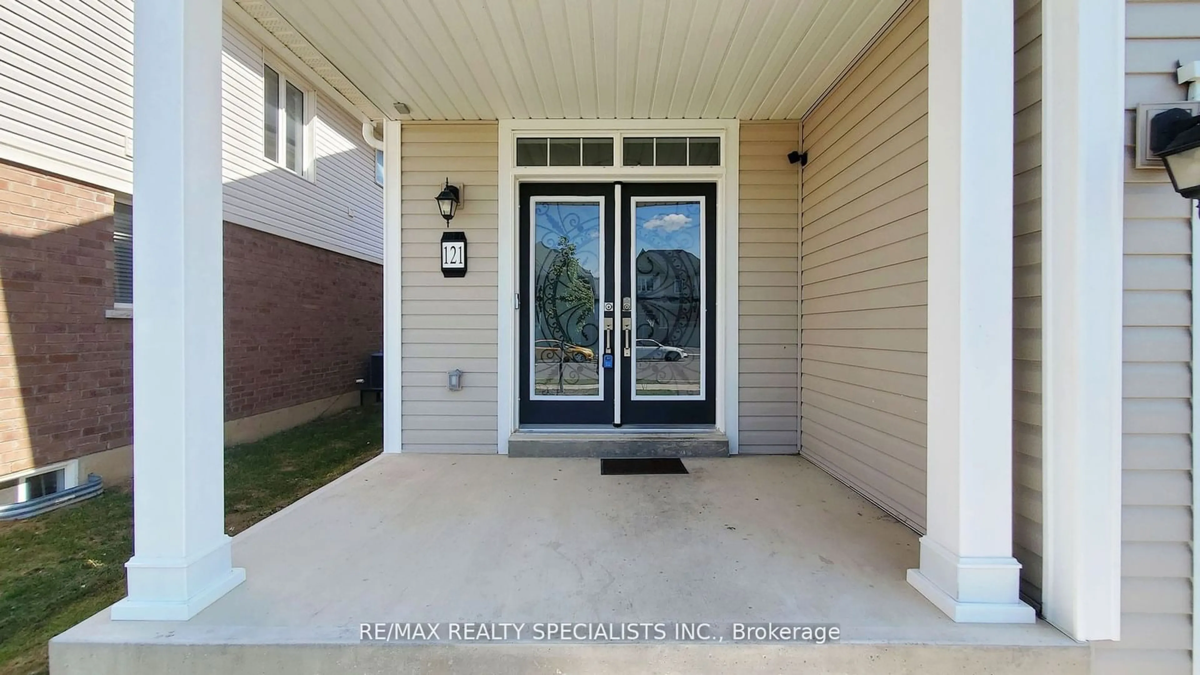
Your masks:
M1045 617L1121 633L1124 0L1042 2Z

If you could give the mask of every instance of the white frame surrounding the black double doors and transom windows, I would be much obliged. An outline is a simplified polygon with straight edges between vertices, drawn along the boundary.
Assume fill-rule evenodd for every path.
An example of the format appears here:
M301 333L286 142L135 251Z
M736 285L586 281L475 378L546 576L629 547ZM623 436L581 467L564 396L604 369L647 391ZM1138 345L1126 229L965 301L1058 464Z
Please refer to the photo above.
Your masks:
M509 452L518 418L517 353L517 190L521 181L714 181L716 183L716 428L738 452L738 120L500 120L499 239L497 292L497 443ZM612 136L611 167L517 167L517 137ZM721 163L715 167L623 167L625 136L715 136ZM619 204L617 205L619 208ZM732 310L732 311L731 311Z

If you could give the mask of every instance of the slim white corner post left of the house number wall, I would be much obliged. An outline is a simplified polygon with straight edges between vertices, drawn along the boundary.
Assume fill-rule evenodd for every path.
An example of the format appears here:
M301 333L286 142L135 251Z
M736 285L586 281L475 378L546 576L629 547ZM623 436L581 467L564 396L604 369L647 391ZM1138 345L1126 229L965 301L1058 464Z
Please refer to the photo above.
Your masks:
M400 124L398 120L383 123L383 452L385 453L398 453L401 443Z

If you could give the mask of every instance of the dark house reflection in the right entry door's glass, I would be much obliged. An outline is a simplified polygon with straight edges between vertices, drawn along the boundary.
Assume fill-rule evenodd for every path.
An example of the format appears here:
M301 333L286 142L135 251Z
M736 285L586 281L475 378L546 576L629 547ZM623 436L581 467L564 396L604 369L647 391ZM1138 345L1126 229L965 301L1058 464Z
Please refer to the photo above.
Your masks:
M700 350L700 258L683 249L642 250L635 287L637 338Z

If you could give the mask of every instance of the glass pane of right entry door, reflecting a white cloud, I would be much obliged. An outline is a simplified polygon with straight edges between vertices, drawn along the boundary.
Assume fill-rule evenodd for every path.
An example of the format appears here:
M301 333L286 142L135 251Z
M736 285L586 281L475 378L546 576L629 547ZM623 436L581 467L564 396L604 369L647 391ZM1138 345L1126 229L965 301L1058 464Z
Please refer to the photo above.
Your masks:
M635 201L634 398L702 398L704 204Z

